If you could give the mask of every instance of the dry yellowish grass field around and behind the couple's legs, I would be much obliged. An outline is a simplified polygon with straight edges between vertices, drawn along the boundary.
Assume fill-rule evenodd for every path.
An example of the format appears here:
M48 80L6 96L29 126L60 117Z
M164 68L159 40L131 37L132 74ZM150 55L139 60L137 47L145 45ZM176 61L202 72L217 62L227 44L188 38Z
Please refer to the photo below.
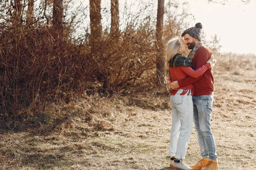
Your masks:
M227 54L215 59L212 131L219 169L253 170L256 57ZM35 127L29 126L32 123ZM46 116L24 119L23 126L17 122L19 128L2 120L0 169L170 170L171 124L165 88L148 86L111 97L82 95L67 105L49 105ZM198 159L200 151L193 130L186 163Z

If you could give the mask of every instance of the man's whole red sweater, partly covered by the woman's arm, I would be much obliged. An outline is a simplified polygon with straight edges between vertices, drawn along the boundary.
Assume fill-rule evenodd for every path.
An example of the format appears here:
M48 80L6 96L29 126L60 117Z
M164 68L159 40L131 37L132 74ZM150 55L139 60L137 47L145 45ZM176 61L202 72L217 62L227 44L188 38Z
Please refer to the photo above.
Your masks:
M201 46L195 53L195 56L192 60L193 68L196 70L204 65L212 56L212 52L207 46ZM198 78L193 77L185 77L183 79L178 80L178 84L180 87L189 85L193 83L194 86L194 96L208 95L212 94L214 91L214 80L212 76L212 68L209 68L204 72L203 75Z

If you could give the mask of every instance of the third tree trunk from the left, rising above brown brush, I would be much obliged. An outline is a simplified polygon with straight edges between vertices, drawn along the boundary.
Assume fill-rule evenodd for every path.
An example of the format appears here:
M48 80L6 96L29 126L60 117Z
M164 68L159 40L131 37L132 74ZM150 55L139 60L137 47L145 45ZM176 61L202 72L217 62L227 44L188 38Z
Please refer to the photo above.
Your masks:
M52 26L56 31L55 40L63 37L63 0L53 0Z

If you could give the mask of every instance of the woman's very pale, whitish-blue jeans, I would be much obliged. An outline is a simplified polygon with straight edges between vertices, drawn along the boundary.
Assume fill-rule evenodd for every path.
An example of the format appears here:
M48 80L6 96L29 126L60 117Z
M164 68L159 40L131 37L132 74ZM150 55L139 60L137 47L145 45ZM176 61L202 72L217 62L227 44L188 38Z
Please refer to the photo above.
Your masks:
M172 106L172 130L169 144L169 156L177 159L185 159L189 138L193 127L193 102L191 94L180 95L182 89L177 94L171 95Z

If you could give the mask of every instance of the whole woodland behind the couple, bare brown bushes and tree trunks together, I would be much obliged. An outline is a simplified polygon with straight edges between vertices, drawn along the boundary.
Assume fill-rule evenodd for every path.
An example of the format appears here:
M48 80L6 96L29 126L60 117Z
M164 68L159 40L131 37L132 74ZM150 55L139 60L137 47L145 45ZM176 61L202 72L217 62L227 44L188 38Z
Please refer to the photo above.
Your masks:
M101 0L79 6L75 0L1 1L2 116L42 114L47 103L68 103L84 92L163 87L164 45L180 37L192 16L186 3L158 3L138 1L140 10L134 12L118 0L111 0L111 11L101 8ZM111 25L103 27L104 18ZM218 41L215 36L208 42L213 51Z

